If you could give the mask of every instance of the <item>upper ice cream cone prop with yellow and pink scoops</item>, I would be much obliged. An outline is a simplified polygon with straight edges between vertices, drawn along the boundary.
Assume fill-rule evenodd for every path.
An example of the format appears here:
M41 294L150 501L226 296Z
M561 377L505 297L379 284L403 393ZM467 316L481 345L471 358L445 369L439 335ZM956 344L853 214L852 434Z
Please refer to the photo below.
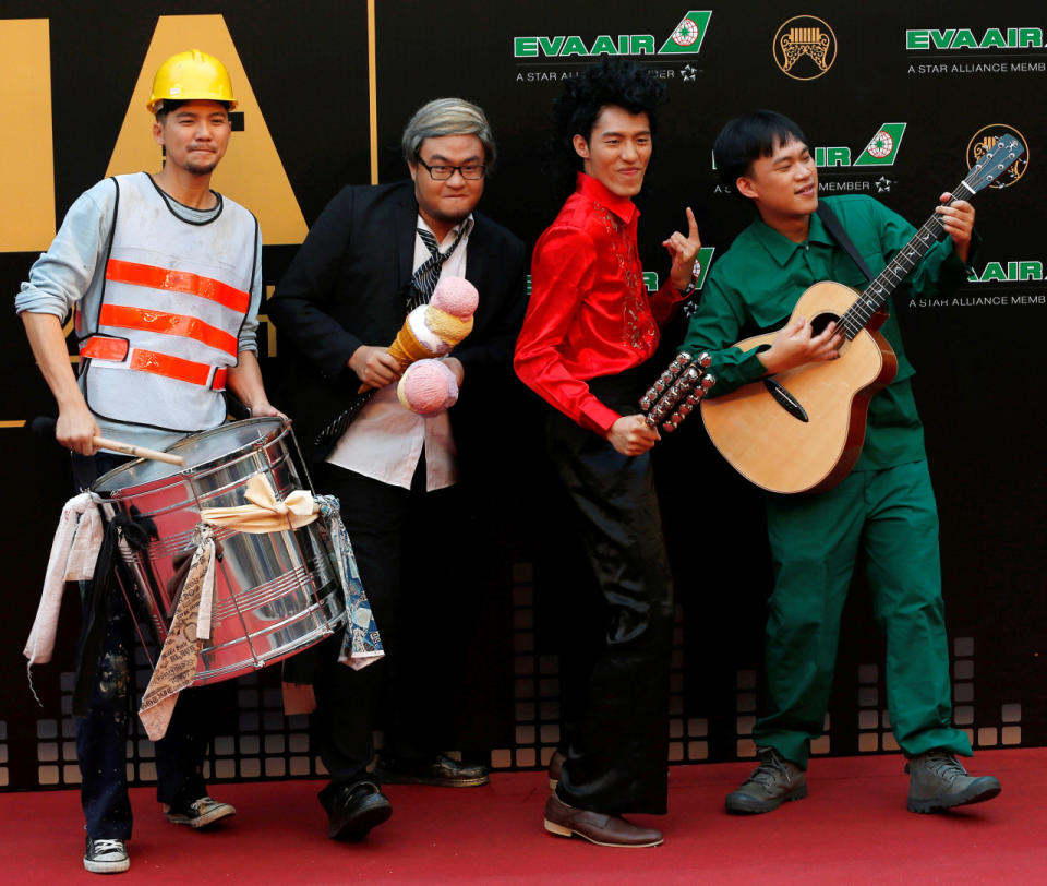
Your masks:
M420 304L407 315L389 354L405 368L416 360L449 354L472 332L479 303L477 288L465 277L443 277L429 304ZM360 393L366 390L368 385L361 385Z

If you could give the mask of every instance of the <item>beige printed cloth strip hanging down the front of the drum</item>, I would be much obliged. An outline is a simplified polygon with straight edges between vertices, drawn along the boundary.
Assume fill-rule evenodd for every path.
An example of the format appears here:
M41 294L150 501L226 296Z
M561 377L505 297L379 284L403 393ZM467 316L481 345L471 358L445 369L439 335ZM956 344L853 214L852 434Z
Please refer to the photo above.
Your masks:
M142 696L139 719L153 741L163 739L178 694L193 685L196 658L210 638L210 610L215 590L214 530L201 523L193 534L193 559L178 597L168 632L149 685Z

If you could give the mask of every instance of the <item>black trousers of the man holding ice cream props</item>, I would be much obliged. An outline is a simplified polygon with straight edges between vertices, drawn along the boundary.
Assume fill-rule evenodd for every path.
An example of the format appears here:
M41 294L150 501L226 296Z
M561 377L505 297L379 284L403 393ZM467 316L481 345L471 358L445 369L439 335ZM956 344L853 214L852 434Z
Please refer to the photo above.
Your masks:
M372 732L378 725L385 733L384 755L419 759L441 750L433 720L446 699L446 674L440 661L419 655L405 634L409 619L402 609L410 608L414 616L420 606L445 592L448 583L442 568L469 567L468 562L460 566L440 562L433 553L434 541L454 537L459 490L426 492L424 458L411 489L333 465L318 469L316 489L341 502L385 657L356 671L337 660L341 632L321 644L313 660L316 710L310 727L332 785L375 781L376 775L366 767L374 757ZM435 561L432 570L419 570L418 561L429 559ZM436 633L441 625L432 628Z

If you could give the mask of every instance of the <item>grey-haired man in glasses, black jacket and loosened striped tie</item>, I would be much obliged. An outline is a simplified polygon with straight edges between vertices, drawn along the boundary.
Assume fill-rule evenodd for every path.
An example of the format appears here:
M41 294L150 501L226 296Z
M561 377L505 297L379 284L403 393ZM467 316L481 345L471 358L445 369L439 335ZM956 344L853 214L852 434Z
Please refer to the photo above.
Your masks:
M353 671L337 663L337 644L321 648L313 730L332 778L321 803L333 839L361 837L388 818L383 775L386 781L456 787L488 781L485 767L458 764L424 746L428 730L410 722L418 706L407 704L406 693L418 693L422 680L401 670L409 657L402 655L397 610L402 564L419 550L408 528L421 516L429 541L438 536L448 551L459 544L449 525L459 480L490 464L485 451L493 447L478 441L486 442L484 431L492 434L492 398L512 383L527 254L513 234L473 212L495 159L480 108L457 98L429 103L405 129L402 148L411 179L344 189L313 225L267 304L281 347L293 356L282 403L316 463L316 488L341 500L387 656ZM471 334L442 358L460 399L450 411L423 418L397 398L402 368L388 346L408 311L450 276L472 283L480 301ZM366 402L357 395L361 385L374 388ZM426 664L431 684L440 669ZM394 704L383 723L382 766L368 773L386 681Z

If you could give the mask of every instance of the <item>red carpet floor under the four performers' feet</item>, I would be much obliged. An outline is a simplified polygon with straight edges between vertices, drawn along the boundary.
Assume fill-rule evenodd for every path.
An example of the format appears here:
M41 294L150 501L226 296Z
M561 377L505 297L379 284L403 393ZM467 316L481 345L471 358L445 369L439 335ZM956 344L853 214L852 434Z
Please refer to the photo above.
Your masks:
M751 817L723 798L748 763L674 766L654 849L605 849L542 828L542 773L496 774L477 789L390 786L393 818L366 842L335 843L316 802L322 782L216 786L236 818L214 833L168 824L137 789L131 871L142 883L1047 883L1047 749L982 752L996 800L944 815L905 811L899 756L816 759L810 797ZM81 865L75 792L0 794L0 881L94 879Z

